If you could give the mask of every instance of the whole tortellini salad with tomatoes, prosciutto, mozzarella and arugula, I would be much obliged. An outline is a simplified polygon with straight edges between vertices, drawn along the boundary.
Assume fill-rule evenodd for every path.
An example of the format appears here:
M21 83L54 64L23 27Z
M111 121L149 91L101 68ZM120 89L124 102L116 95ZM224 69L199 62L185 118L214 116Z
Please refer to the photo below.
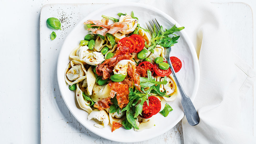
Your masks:
M153 127L154 115L166 117L178 95L176 83L164 57L165 49L177 43L175 25L152 34L141 28L138 18L118 13L119 19L102 15L87 20L90 31L70 52L65 70L70 90L76 90L79 106L95 119L94 126L109 123L112 132L122 126L142 131ZM113 23L109 24L109 20ZM177 57L170 57L175 72L182 68Z

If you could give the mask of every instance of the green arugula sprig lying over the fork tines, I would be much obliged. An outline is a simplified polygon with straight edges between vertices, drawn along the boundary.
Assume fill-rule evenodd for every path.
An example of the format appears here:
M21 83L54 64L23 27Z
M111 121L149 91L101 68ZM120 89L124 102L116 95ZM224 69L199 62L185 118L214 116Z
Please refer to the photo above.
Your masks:
M156 33L156 25L154 25L154 30L152 33L152 39L151 39L151 46L148 48L152 52L152 50L157 46L161 45L163 47L171 47L173 44L177 43L177 40L180 36L177 36L173 34L176 31L181 31L185 27L177 28L176 25L174 25L169 30L166 29L166 31L163 30L163 26L160 27L160 31ZM174 35L172 38L170 38L168 35Z

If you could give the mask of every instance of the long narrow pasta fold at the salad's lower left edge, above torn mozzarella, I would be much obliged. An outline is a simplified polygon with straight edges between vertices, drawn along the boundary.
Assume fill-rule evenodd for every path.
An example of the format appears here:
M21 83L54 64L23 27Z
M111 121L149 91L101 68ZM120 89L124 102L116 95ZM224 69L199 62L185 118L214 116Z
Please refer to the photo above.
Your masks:
M79 88L79 83L76 84L76 99L77 102L80 106L80 108L82 108L83 110L87 111L88 113L92 112L92 108L89 106L90 105L90 101L84 99L83 97L83 92L82 90Z

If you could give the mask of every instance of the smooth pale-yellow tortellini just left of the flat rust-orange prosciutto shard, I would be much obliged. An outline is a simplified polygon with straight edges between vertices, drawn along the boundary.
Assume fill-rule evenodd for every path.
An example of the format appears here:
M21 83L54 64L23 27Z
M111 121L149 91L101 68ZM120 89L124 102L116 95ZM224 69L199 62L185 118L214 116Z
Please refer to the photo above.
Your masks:
M103 86L100 86L97 83L95 83L92 89L91 99L94 102L98 102L99 100L103 100L105 98L110 97L110 92L111 92L111 89L108 84L104 84Z

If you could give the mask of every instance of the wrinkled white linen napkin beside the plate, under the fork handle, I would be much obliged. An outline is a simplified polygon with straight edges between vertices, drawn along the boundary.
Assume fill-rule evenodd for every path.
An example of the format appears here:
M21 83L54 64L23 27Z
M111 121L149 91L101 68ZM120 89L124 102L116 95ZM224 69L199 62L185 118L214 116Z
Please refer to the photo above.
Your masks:
M185 143L256 143L241 130L240 97L255 80L256 72L233 54L221 16L204 0L142 0L185 26L196 49L200 83L194 100L200 123L182 119ZM245 75L245 77L242 77Z

